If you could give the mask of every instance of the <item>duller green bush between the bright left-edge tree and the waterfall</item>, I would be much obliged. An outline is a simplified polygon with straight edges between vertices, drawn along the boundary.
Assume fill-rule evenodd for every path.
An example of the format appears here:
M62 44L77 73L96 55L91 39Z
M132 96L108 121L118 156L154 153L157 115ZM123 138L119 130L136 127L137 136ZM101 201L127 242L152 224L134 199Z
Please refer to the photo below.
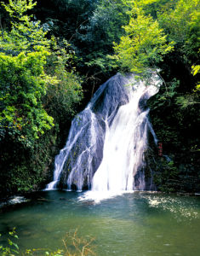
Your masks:
M52 42L54 52L48 57L46 73L58 79L57 84L50 83L47 94L43 97L43 106L52 115L56 123L65 123L75 114L76 103L83 96L82 80L75 73L72 61L74 53L66 41ZM61 45L60 45L61 44Z

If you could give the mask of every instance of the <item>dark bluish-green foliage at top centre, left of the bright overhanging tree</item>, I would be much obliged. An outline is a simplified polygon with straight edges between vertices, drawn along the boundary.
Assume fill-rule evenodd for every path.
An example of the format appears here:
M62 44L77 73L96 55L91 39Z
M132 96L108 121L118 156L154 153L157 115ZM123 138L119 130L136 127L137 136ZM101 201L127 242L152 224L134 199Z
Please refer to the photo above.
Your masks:
M104 73L116 68L107 55L113 51L113 42L119 42L124 33L123 26L129 22L128 10L129 7L122 0L99 1L93 15L89 17L89 24L83 26L87 32L80 37L87 47L92 46L86 56L89 67L98 67Z

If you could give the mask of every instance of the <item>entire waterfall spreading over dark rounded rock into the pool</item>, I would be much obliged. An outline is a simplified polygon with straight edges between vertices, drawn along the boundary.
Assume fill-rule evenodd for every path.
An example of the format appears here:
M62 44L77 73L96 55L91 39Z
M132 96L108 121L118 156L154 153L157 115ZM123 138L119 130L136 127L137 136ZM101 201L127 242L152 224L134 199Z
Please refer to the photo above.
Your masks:
M102 84L71 122L65 148L55 157L54 181L46 189L123 191L146 189L144 153L148 132L146 101L157 93L157 77L146 86L119 73Z

